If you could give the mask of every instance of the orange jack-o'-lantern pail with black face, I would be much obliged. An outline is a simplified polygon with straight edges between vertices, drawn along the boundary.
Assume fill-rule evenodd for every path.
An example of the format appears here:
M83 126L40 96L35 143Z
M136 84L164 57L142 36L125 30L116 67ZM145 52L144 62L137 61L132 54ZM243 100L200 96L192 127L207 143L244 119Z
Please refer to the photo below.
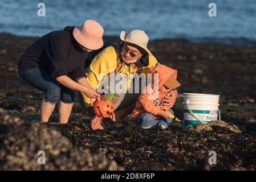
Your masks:
M109 118L113 112L114 107L111 101L96 101L94 104L94 113L97 117Z

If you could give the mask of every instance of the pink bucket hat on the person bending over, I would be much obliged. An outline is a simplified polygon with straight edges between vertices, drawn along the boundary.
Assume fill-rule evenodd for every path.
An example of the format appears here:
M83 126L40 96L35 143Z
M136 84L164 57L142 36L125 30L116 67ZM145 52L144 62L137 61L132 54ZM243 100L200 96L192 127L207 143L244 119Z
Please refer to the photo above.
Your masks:
M76 41L88 49L99 49L103 46L103 27L95 20L86 20L82 26L74 28Z

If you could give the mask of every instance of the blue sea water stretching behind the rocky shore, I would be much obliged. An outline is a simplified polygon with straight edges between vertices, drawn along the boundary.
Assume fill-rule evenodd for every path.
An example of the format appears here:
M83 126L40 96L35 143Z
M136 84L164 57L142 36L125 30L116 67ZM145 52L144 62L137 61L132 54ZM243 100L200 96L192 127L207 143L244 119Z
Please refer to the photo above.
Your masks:
M46 16L38 16L38 3ZM209 3L217 16L209 16ZM97 20L104 35L144 30L149 39L184 38L192 41L256 41L256 0L1 0L0 32L42 36L47 32Z

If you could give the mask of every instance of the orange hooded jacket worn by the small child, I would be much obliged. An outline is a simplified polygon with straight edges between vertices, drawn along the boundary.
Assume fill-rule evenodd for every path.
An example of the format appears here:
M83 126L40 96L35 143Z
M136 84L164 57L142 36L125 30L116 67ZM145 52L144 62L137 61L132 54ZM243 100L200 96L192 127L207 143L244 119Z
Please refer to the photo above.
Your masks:
M148 84L143 90L143 93L140 94L140 97L136 102L135 109L132 111L132 118L136 118L137 115L145 112L152 113L156 116L160 110L170 109L168 106L162 105L164 104L164 96L168 92L164 93L159 90L154 90L154 85L158 83L158 88L161 88L172 74L174 74L177 79L177 70L169 68L166 65L159 64L152 67L150 69L150 73L152 73L152 84ZM159 74L158 80L156 80L157 83L154 81L155 73Z

